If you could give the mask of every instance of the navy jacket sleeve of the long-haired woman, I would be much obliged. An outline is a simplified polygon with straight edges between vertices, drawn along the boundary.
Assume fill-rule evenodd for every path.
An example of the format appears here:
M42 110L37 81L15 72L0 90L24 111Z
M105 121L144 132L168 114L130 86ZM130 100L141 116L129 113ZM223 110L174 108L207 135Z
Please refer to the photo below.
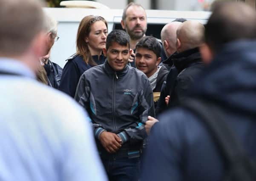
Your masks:
M80 74L78 72L78 68L73 61L69 60L63 68L59 90L65 92L71 97L74 97L79 78Z

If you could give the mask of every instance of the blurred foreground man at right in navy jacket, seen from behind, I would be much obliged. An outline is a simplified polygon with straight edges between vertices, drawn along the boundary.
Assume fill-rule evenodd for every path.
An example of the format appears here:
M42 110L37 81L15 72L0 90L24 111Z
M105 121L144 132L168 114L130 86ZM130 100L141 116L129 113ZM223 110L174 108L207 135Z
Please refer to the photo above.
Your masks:
M189 93L224 112L224 122L252 160L256 159L255 39L255 9L244 3L216 6L205 28L206 44L200 48L209 65ZM232 169L194 112L177 108L163 114L151 134L142 181L221 181Z

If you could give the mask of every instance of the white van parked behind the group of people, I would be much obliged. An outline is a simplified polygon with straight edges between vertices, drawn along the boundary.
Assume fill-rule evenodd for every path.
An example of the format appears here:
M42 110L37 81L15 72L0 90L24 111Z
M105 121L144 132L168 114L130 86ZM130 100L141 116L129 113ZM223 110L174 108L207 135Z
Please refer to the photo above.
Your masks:
M76 52L76 34L79 22L87 15L102 16L108 22L109 32L121 28L122 9L92 8L44 8L44 11L58 21L60 39L52 47L51 60L64 67L66 59ZM160 39L161 28L176 18L207 22L210 12L146 10L147 33Z

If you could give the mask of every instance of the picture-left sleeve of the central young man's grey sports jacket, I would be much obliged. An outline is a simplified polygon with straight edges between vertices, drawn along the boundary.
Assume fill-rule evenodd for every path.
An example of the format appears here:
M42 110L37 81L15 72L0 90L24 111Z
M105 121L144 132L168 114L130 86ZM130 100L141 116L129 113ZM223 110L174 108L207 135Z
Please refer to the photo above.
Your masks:
M92 112L93 114L93 108L92 104L90 103L90 85L89 81L86 80L86 75L81 75L81 78L78 82L78 86L75 92L75 100L83 106L84 109L90 114ZM91 115L91 114L90 114ZM92 119L89 119L89 122L92 125L92 128L94 130L94 135L96 138L99 139L99 136L103 131L106 131L104 128L102 128L102 125L96 124L92 122Z

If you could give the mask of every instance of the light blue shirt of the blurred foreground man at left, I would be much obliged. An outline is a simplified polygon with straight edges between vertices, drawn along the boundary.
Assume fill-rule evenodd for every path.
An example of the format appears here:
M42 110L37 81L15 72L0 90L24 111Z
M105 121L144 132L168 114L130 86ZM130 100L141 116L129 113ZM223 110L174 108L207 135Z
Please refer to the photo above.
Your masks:
M0 58L1 181L106 181L87 115L74 100Z

